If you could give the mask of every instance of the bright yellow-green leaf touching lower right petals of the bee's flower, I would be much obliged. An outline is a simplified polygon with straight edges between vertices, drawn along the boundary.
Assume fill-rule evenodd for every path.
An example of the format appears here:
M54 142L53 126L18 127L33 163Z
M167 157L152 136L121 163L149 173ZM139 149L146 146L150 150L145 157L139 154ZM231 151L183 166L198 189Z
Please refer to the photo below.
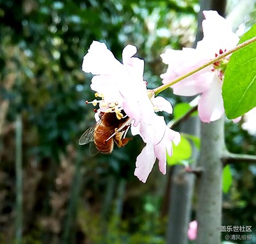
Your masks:
M182 164L182 161L188 160L191 157L191 154L191 144L189 143L188 139L181 135L178 146L173 146L173 155L169 156L168 153L166 153L167 164Z

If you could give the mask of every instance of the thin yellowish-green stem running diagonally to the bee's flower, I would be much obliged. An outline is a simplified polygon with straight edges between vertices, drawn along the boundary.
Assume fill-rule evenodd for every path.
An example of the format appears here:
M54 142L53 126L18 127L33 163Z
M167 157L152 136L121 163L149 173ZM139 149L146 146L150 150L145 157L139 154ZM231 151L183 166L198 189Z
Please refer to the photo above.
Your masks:
M220 61L220 59L223 59L223 57L226 57L230 54L232 54L233 52L236 52L237 50L239 49L242 49L243 47L246 47L247 45L250 45L252 44L253 42L256 42L256 36L253 37L252 39L250 40L247 40L246 42L243 42L239 45L237 45L236 47L234 47L234 49L230 49L228 50L227 52L224 52L223 54L219 55L218 57L214 58L214 59L211 59L209 62L205 63L204 65L200 66L199 68L196 68L195 70L192 70L191 72L188 72L186 73L185 75L182 75L180 77L178 77L177 79L175 80L172 80L171 82L168 82L166 84L163 84L162 86L159 86L158 88L155 88L153 91L155 93L155 96L158 94L158 93L161 93L161 91L164 91L166 88L169 88L170 86L176 84L177 82L179 82L180 80L183 80L187 77L189 77L190 75L193 75L194 73L202 70L203 68L209 66L209 65L212 65L213 63L217 62L217 61Z

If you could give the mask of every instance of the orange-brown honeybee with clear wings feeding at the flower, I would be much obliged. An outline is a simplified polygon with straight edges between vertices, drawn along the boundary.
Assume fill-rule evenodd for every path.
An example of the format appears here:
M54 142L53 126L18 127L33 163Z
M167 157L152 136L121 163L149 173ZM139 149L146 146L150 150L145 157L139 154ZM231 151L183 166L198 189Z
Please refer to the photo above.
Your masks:
M100 112L99 117L100 120L88 128L79 139L79 145L91 142L89 148L91 156L99 152L109 154L113 151L114 142L118 147L122 147L131 140L125 138L130 126L128 116L118 119L115 112Z

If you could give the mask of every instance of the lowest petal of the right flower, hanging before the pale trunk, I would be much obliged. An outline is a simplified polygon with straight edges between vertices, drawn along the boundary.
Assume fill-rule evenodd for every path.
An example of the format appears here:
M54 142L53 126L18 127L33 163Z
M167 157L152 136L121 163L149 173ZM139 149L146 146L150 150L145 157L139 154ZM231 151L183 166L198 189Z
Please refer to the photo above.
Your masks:
M203 93L198 101L198 115L205 123L216 121L223 116L224 107L221 88L222 81L217 75L214 75L211 88Z

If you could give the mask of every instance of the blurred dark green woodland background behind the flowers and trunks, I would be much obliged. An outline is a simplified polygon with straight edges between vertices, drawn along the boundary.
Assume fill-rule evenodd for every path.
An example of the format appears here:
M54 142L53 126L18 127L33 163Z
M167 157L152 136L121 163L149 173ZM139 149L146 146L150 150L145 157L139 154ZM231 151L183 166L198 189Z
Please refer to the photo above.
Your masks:
M196 0L0 1L0 243L165 243L173 169L163 176L155 165L141 183L138 137L111 155L78 145L95 123L81 64L93 40L119 60L131 43L156 88L166 70L159 55L193 46L199 10ZM255 11L241 24L252 22ZM226 129L230 151L255 153L255 137L239 124ZM255 227L256 167L232 165L232 175L223 225Z

